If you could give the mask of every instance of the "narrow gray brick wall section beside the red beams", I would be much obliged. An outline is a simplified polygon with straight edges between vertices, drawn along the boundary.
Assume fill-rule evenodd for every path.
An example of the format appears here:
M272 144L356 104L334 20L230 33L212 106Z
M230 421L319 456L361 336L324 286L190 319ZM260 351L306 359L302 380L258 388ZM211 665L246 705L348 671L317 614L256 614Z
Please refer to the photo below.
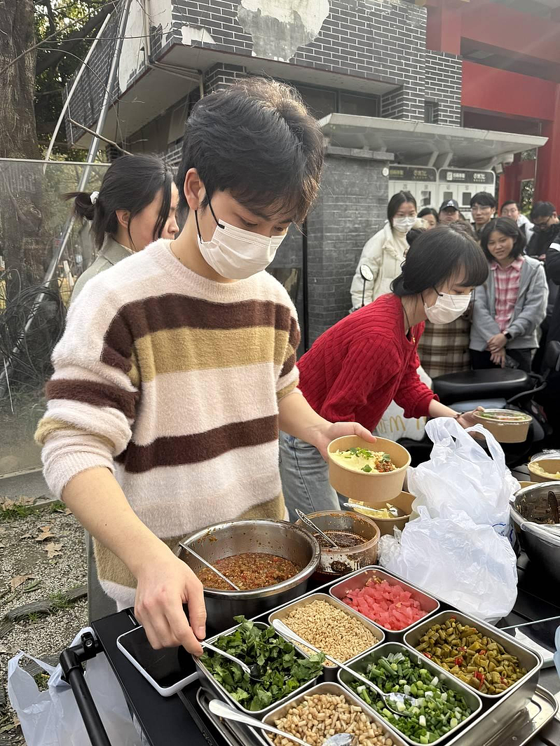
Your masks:
M461 57L426 49L424 92L438 103L438 125L461 126Z

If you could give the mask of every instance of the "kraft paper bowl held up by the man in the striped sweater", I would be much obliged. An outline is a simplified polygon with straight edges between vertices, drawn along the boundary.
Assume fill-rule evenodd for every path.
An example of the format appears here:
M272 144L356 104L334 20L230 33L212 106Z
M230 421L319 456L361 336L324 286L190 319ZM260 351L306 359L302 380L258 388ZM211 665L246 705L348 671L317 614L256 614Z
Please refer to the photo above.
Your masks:
M383 474L371 471L354 471L333 460L336 451L347 451L349 448L368 448L370 451L382 451L391 456L395 471ZM411 457L406 448L385 438L377 438L375 443L368 443L357 435L346 435L329 443L329 482L340 495L352 500L364 501L367 505L391 502L402 492L405 474L410 466Z

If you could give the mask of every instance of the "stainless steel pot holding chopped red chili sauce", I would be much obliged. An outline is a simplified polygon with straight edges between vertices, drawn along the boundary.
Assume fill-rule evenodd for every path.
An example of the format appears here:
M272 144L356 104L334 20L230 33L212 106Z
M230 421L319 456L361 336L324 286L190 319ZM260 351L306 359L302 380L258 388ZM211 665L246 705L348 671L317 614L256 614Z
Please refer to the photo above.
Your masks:
M228 521L190 534L181 542L193 548L208 562L244 552L264 552L284 557L301 571L281 583L255 591L217 591L205 589L208 627L221 632L234 622L234 616L246 618L257 616L275 606L287 604L305 593L308 580L319 564L321 551L317 539L304 528L287 521ZM184 548L178 557L195 572L204 565L192 557Z

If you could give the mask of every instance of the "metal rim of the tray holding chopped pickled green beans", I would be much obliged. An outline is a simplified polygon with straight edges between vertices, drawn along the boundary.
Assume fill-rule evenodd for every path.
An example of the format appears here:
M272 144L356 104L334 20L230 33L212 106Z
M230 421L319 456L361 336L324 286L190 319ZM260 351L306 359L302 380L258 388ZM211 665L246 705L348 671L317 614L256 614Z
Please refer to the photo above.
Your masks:
M534 653L524 645L515 642L511 635L505 635L503 632L500 632L497 627L493 627L491 624L484 624L479 621L479 619L475 619L474 617L470 617L467 614L462 614L458 611L443 611L440 614L430 617L426 621L421 621L416 625L416 627L413 627L410 632L406 633L404 636L405 645L408 645L411 650L417 652L415 650L416 645L420 642L420 638L426 633L426 631L434 624L444 624L452 616L454 616L461 624L470 624L470 626L476 627L479 632L482 632L486 636L494 639L496 642L499 642L506 652L517 656L517 659L523 668L527 669L526 675L514 683L513 686L505 689L505 692L500 692L500 694L497 695L487 695L482 692L477 692L476 689L474 689L476 694L479 695L483 701L487 700L491 702L494 702L497 699L503 700L506 697L514 696L517 701L517 706L519 707L523 707L526 702L529 702L532 692L535 691L535 686L538 683L538 673L541 670L543 663L542 658L538 653ZM438 665L434 660L432 660L432 663ZM441 668L441 671L445 671L445 668L439 665L438 668ZM449 671L447 671L447 673L449 673ZM469 685L467 684L467 686Z

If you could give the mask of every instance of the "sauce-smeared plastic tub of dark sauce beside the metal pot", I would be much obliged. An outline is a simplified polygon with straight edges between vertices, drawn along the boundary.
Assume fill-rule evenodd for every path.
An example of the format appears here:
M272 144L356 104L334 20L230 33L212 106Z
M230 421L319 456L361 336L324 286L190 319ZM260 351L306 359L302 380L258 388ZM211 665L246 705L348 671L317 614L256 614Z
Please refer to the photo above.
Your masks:
M315 575L320 576L321 580L333 580L339 575L376 564L380 532L371 518L349 510L321 510L318 513L308 513L308 518L339 545L338 549L327 547L324 539L316 536L320 542L321 558ZM307 528L301 519L296 521L296 526ZM313 533L311 527L307 530ZM353 540L352 536L365 541L343 547L346 541Z

